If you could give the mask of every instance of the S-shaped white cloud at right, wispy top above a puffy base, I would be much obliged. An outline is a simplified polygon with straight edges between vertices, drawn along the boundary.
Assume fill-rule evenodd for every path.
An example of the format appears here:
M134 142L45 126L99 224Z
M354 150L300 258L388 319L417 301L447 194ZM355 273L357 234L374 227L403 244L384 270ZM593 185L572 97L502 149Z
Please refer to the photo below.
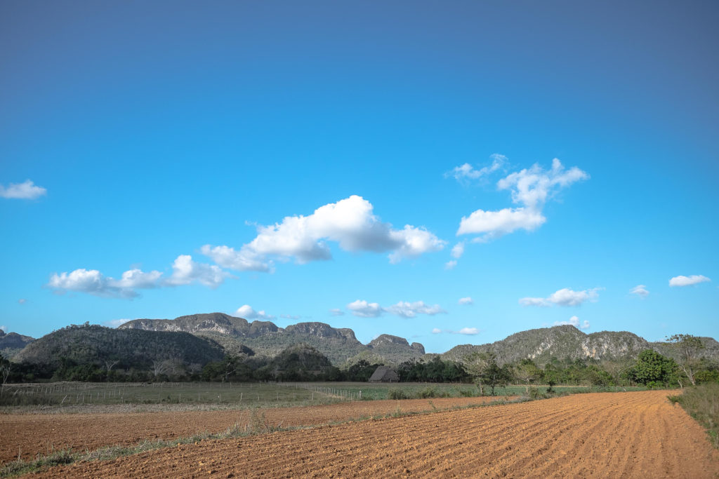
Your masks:
M516 208L496 211L476 210L459 222L457 235L475 234L474 242L490 241L517 230L534 231L546 222L542 214L547 200L574 182L589 178L577 167L564 169L555 158L551 169L534 164L497 182L498 190L509 190Z

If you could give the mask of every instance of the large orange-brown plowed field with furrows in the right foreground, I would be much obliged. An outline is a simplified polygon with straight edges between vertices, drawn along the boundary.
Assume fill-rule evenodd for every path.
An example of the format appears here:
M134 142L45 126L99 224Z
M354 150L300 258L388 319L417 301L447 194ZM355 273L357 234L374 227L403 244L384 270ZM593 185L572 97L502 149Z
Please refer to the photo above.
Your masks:
M644 391L203 441L45 475L711 478L717 456L666 391Z

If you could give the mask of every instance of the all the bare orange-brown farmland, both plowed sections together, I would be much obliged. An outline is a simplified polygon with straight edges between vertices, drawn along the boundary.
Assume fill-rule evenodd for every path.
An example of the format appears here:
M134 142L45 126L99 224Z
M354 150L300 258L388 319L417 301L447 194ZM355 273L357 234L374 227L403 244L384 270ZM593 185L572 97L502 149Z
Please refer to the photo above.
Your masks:
M462 406L491 399L336 401L265 409L268 424L313 427L180 443L113 460L78 461L45 474L715 477L718 452L667 394L575 394L470 409ZM47 453L50 442L56 449L93 450L221 431L247 424L253 411L4 414L0 427L9 434L3 435L2 457L17 457L17 447L27 456ZM421 411L431 414L408 414Z

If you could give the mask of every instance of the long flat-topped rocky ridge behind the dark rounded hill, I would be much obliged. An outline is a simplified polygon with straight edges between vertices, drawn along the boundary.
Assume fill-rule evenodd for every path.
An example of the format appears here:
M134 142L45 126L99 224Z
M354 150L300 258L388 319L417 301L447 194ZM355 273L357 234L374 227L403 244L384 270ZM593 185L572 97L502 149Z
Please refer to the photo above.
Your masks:
M221 312L180 316L174 320L133 320L119 329L190 332L216 341L229 353L239 352L244 345L257 354L271 357L290 345L306 343L338 366L365 358L369 354L380 361L395 364L418 359L424 354L423 345L409 344L397 336L380 335L364 345L355 338L351 329L331 327L324 322L300 322L278 327L270 321L248 322L242 317Z

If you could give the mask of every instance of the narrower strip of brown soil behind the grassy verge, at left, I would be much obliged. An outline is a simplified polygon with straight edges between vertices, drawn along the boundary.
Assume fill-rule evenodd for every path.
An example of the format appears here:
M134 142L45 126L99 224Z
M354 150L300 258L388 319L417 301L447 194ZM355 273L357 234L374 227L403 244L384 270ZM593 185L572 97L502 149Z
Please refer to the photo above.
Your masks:
M265 409L272 425L328 424L362 416L402 411L426 411L480 404L498 398L407 399L355 401L326 406ZM244 426L249 411L180 411L131 414L1 414L0 463L25 460L52 450L95 450L106 445L134 445L141 440L188 437L201 432L222 432L234 424Z

